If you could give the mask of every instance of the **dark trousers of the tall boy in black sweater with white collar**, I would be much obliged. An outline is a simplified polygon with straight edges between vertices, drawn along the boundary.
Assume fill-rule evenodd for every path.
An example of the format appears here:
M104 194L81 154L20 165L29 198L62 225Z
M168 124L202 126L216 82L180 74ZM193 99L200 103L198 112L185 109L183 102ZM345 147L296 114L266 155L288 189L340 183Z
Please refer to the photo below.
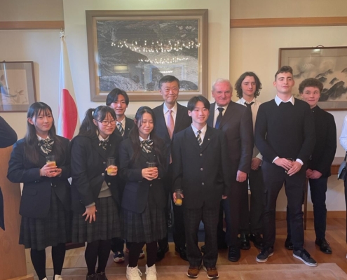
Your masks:
M263 238L265 247L275 244L275 211L278 193L285 184L288 208L290 209L290 228L294 248L304 246L304 219L302 204L304 202L304 182L306 166L292 176L285 173L285 169L269 162L263 162L263 175L265 185L265 209L263 220Z

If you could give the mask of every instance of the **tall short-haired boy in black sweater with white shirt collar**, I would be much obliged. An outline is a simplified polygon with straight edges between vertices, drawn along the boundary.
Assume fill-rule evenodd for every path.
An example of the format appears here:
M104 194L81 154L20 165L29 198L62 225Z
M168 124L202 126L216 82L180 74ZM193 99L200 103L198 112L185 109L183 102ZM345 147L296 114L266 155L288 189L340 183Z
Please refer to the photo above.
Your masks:
M293 71L282 66L275 73L275 99L259 106L255 124L255 144L263 155L266 190L264 211L264 248L257 262L266 262L273 255L275 243L275 209L278 193L285 184L293 256L306 265L317 262L304 249L304 223L301 205L304 201L306 165L315 145L315 125L310 106L292 96Z

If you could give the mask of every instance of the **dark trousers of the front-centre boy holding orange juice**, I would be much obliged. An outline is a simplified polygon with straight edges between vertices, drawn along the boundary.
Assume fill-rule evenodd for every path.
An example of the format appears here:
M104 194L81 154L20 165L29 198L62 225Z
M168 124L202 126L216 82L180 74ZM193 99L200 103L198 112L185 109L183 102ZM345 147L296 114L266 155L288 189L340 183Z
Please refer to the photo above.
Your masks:
M189 265L199 267L201 262L205 267L215 267L218 258L217 223L219 207L207 209L184 208L184 224L186 228L186 255ZM205 228L205 254L198 247L198 230L200 221Z

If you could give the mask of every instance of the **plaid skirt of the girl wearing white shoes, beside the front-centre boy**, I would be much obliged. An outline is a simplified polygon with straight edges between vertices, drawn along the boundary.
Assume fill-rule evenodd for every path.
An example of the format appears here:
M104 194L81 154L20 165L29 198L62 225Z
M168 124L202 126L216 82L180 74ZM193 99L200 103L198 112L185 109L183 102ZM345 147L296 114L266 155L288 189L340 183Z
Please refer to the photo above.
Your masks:
M166 237L166 221L164 209L159 209L156 202L149 200L142 213L135 213L122 208L123 238L128 242L150 243Z

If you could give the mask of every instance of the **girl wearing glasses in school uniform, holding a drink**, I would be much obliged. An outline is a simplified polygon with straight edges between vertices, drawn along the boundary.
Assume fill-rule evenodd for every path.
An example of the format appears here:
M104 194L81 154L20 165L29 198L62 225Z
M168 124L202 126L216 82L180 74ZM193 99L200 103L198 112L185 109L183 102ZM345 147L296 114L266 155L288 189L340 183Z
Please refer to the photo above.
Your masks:
M88 242L87 280L107 280L105 268L111 239L121 236L116 165L122 137L114 134L115 129L113 109L108 106L88 109L79 135L71 144L72 241ZM108 158L116 162L112 170L107 169Z

